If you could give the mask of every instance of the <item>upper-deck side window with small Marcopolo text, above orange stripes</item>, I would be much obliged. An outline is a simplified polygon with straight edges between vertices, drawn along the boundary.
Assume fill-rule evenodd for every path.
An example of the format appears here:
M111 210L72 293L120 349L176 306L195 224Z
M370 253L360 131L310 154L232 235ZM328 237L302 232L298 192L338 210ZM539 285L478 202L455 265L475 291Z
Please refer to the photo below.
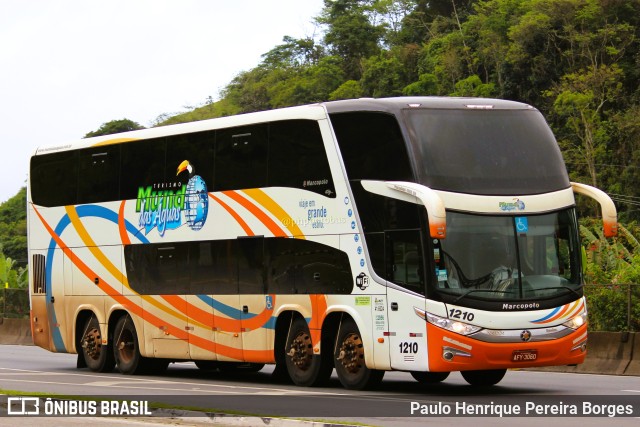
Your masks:
M269 126L269 186L303 188L335 197L317 122L289 120Z

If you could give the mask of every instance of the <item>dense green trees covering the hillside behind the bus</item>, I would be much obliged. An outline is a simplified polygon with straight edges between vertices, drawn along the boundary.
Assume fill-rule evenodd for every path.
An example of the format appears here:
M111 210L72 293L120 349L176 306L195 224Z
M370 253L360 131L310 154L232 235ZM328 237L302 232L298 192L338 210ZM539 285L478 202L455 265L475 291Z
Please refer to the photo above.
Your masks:
M583 223L587 281L639 283L640 1L325 0L315 22L316 37L285 37L217 101L157 124L357 97L526 102L547 117L572 180L609 193L627 224L607 241ZM139 128L114 120L86 136ZM582 216L596 213L579 203ZM23 189L0 206L0 242L17 267L25 233Z

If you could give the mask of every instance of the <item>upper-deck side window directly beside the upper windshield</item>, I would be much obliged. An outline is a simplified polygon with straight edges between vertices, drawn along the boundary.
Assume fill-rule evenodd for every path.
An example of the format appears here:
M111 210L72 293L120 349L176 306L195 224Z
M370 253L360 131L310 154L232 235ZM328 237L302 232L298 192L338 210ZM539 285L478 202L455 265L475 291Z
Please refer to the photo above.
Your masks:
M337 113L331 124L350 180L414 181L396 118L377 112Z

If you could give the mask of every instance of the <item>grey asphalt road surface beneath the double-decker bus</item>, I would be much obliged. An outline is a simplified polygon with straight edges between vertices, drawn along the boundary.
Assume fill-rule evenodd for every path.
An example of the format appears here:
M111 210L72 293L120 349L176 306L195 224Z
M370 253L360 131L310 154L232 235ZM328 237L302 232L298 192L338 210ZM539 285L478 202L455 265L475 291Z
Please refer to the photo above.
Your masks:
M510 371L499 385L476 389L468 386L457 373L443 383L424 385L407 373L391 372L386 374L382 385L375 391L358 392L343 389L335 374L329 387L325 388L301 388L277 383L271 377L272 368L269 366L257 373L223 375L201 371L193 363L175 363L160 376L125 376L117 372L97 374L87 369L76 369L75 366L75 355L49 353L33 346L0 346L0 389L9 396L11 393L6 390L99 396L113 400L126 398L202 408L217 413L237 411L268 416L355 421L375 426L575 425L578 418L571 413L573 407L578 408L581 427L637 426L640 420L640 377ZM600 411L604 415L611 411L625 412L631 408L634 416L582 417L585 408L591 412ZM498 416L500 412L516 410L520 410L520 415L528 412L529 416ZM421 414L425 411L429 415ZM478 417L483 411L491 416ZM538 416L544 411L560 411L564 417ZM472 412L474 416L460 416ZM455 414L458 416L451 416ZM569 421L567 417L572 418ZM94 418L92 422L110 425L119 420ZM153 418L129 420L144 425L166 421ZM15 421L17 418L0 417L0 425L14 425L12 423ZM39 418L37 424L44 425L44 421L44 418ZM54 424L50 425L57 425L61 421L60 418L53 418ZM76 425L78 422L77 425L92 425L83 418L68 421L64 424ZM210 421L201 417L188 421L173 420L172 423L199 424ZM252 425L251 421L247 422L249 424L244 425ZM232 424L230 422L229 425Z

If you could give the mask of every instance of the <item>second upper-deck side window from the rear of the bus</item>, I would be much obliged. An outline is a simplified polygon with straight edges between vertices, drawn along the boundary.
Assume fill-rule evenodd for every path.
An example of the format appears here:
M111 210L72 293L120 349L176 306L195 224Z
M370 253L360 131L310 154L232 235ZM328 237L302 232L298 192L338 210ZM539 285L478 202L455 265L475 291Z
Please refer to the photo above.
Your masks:
M118 200L120 146L79 151L78 204Z

